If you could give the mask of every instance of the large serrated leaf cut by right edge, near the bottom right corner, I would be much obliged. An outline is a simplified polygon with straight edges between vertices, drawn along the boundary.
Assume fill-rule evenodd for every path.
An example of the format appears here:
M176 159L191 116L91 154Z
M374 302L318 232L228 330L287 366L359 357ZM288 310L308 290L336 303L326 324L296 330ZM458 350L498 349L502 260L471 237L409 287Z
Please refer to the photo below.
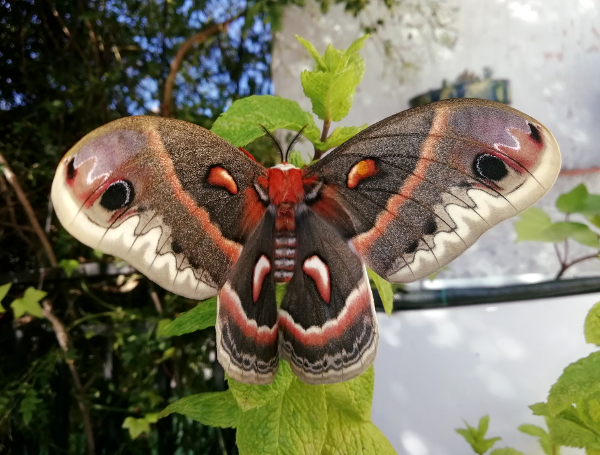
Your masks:
M600 352L593 352L567 366L548 395L551 416L600 391Z

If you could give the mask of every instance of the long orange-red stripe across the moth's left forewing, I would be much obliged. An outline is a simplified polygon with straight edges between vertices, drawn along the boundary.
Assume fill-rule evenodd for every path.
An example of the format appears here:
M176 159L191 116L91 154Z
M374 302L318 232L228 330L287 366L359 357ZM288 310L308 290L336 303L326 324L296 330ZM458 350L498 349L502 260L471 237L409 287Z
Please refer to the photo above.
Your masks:
M198 207L191 196L182 188L181 182L173 168L173 161L169 153L165 150L159 134L151 130L148 133L148 146L157 154L158 160L163 168L163 175L169 182L173 194L187 209L188 213L196 218L202 225L210 239L229 257L232 262L236 262L242 246L223 237L221 231L210 221L210 216L206 210Z

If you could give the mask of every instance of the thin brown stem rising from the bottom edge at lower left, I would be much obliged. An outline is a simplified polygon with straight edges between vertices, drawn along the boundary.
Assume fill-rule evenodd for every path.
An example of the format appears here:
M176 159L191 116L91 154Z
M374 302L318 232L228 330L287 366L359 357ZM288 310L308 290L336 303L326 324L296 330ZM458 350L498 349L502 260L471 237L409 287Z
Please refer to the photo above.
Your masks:
M52 305L50 305L50 302L48 302L47 300L43 302L42 314L52 324L52 328L54 329L54 333L56 334L58 344L60 345L60 348L63 350L63 352L66 354L71 348L71 339L67 330L65 329L65 325L52 312ZM81 411L81 415L83 417L83 428L85 430L85 436L87 438L88 455L96 455L96 443L94 442L94 429L92 427L92 418L90 416L90 410L84 401L85 393L83 386L81 385L81 379L79 377L79 373L77 372L77 368L75 368L75 361L69 358L68 356L65 356L65 361L67 362L69 370L71 371L71 376L73 377L73 383L75 385L75 394L77 396L77 401L79 402L79 410Z

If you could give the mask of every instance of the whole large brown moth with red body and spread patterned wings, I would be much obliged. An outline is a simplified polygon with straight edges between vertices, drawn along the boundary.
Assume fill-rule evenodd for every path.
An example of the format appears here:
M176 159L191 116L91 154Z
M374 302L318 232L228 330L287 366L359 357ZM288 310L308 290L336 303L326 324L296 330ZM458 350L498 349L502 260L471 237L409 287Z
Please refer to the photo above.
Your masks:
M269 383L281 356L326 384L375 357L366 267L393 283L430 275L536 202L560 163L548 129L483 100L401 112L304 169L266 169L199 126L140 116L79 141L52 201L86 245L176 294L217 295L230 377Z

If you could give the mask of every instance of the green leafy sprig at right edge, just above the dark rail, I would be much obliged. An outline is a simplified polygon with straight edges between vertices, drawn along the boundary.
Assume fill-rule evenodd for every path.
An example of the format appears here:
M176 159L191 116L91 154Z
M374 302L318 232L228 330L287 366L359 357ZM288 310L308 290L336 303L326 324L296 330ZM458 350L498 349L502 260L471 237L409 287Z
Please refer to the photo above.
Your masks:
M579 262L597 258L600 253L600 195L590 194L582 183L568 193L561 194L556 207L565 214L564 221L553 222L542 209L532 207L521 214L515 223L517 242L535 241L555 244L560 270L560 278L570 267ZM583 223L570 221L572 215L582 218ZM596 253L569 259L569 239L587 247ZM562 243L562 253L558 244Z

